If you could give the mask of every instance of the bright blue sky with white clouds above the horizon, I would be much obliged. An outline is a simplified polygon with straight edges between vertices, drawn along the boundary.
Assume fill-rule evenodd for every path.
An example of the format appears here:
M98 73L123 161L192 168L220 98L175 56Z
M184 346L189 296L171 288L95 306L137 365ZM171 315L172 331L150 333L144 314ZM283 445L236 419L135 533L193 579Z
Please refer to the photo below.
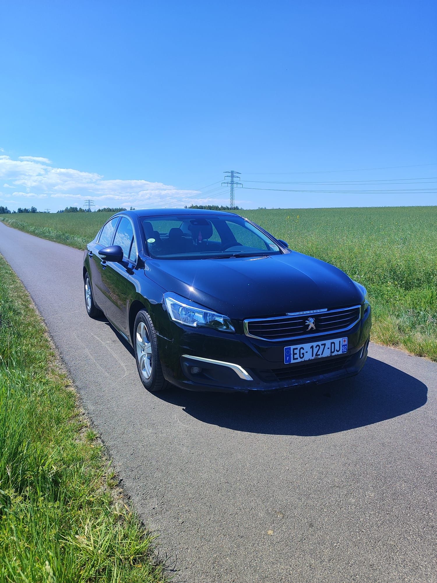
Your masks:
M226 203L231 168L245 208L435 204L436 22L422 0L3 3L0 205Z

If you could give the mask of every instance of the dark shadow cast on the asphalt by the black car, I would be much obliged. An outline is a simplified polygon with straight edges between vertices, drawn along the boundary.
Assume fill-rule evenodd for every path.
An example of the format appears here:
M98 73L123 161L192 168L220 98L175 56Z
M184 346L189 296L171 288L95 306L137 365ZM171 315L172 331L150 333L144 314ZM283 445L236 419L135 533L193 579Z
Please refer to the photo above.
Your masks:
M357 377L270 395L170 389L156 396L213 425L236 431L321 436L404 415L427 402L417 378L368 358Z

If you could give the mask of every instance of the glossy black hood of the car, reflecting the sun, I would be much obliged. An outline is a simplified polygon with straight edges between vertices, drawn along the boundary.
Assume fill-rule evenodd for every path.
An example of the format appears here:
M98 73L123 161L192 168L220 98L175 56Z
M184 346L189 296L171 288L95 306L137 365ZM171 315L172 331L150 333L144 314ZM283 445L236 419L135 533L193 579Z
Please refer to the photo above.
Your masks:
M146 276L234 319L340 308L364 301L340 269L297 251L264 257L149 259Z

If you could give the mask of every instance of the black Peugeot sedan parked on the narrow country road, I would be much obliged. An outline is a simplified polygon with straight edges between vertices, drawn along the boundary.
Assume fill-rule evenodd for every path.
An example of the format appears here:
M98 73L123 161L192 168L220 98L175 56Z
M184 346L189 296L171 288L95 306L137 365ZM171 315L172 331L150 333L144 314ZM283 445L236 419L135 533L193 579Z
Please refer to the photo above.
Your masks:
M88 314L132 345L149 391L285 389L352 376L367 357L365 288L232 213L117 213L87 245L83 280Z

